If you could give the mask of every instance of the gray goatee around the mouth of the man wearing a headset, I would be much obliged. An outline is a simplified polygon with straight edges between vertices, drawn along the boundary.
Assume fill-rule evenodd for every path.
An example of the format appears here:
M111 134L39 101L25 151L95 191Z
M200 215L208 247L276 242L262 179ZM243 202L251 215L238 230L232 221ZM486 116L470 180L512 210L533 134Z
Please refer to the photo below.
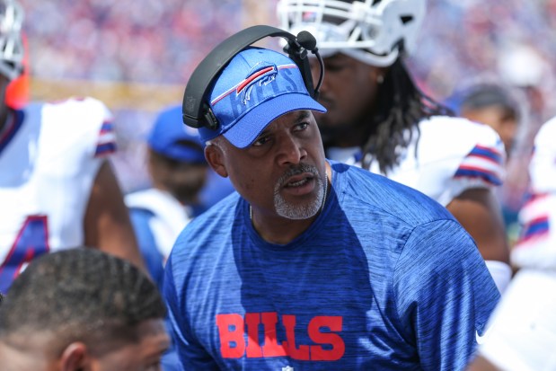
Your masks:
M292 203L288 203L279 193L281 185L287 181L287 178L302 172L311 172L314 175L317 189L316 198L312 202L304 205L294 205ZM302 163L296 168L291 168L278 180L276 187L274 188L274 208L276 208L276 212L279 216L286 217L287 219L308 219L315 216L321 209L325 197L326 187L326 174L324 175L324 179L322 179L319 176L319 172L316 167Z

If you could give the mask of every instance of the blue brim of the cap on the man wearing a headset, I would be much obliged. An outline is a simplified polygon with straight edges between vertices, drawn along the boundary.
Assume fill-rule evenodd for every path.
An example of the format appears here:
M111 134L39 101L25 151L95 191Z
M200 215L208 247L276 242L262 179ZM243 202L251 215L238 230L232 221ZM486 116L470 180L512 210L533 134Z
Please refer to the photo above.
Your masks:
M232 145L245 148L260 136L262 130L270 122L294 110L326 112L326 109L309 95L287 93L261 103L247 112L232 128L224 133L224 137Z

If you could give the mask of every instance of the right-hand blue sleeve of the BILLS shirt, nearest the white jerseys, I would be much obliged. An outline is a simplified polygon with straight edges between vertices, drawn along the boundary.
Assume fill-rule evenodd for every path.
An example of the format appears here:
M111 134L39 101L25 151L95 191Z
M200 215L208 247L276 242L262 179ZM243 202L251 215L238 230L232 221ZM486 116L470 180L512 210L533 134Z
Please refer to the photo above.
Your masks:
M394 292L423 370L465 369L499 301L472 238L453 220L412 232L397 263Z

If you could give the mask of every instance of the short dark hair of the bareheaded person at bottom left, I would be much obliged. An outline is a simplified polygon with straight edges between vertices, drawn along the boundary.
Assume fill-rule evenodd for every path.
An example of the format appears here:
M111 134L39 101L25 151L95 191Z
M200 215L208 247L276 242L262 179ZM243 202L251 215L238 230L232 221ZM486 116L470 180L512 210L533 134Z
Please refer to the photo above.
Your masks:
M54 349L83 341L102 353L113 340L137 340L139 323L165 315L156 286L133 264L75 248L31 261L13 281L0 307L0 340L51 332Z

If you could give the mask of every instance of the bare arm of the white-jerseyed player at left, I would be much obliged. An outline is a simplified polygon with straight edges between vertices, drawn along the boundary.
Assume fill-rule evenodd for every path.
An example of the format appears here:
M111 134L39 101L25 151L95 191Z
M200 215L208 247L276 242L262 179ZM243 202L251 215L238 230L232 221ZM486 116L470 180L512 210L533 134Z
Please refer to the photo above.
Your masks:
M102 161L91 190L84 217L85 244L98 247L145 269L137 248L118 180L110 163Z

